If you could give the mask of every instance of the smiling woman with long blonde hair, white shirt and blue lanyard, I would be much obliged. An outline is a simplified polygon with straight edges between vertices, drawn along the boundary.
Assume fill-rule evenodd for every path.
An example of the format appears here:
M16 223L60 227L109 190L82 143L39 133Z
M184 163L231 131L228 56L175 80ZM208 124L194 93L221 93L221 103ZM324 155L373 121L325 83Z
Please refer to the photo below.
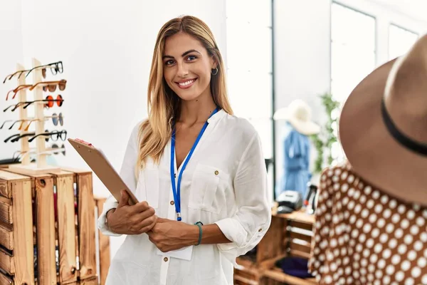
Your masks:
M159 31L148 119L132 131L120 172L140 202L110 197L98 220L104 234L128 234L107 284L233 284L236 257L270 226L260 138L233 116L224 71L201 20Z

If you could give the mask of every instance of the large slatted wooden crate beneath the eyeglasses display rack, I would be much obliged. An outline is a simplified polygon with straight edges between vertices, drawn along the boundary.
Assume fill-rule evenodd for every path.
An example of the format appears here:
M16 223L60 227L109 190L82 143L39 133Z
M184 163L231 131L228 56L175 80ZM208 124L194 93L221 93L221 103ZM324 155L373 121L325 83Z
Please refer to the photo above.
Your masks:
M2 168L0 285L98 284L95 207L92 172Z

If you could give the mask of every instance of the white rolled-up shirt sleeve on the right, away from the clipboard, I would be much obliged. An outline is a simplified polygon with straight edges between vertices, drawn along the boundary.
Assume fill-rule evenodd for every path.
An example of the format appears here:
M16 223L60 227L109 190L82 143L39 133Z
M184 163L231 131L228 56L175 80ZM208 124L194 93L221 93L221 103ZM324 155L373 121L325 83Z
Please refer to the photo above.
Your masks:
M258 133L253 135L239 162L233 180L236 214L216 224L231 241L217 244L221 254L236 264L239 257L253 249L264 237L271 223L267 198L267 170Z

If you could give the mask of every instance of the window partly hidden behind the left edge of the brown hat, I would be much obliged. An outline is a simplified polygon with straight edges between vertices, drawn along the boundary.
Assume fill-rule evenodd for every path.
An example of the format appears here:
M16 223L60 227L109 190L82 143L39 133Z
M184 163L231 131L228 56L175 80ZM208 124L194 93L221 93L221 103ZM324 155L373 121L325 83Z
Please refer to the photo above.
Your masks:
M375 30L373 16L332 2L331 93L339 103L344 103L354 87L375 68ZM337 135L337 125L332 128ZM339 142L332 145L331 151L334 163L344 159Z

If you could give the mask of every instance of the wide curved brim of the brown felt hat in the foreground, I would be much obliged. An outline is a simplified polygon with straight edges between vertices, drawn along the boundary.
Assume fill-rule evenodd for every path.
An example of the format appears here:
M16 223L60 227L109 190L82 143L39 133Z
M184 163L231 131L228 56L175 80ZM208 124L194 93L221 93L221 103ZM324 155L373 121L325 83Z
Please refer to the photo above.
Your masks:
M405 202L427 205L427 157L394 140L381 117L395 61L376 68L349 95L339 118L339 140L354 172L364 180Z

